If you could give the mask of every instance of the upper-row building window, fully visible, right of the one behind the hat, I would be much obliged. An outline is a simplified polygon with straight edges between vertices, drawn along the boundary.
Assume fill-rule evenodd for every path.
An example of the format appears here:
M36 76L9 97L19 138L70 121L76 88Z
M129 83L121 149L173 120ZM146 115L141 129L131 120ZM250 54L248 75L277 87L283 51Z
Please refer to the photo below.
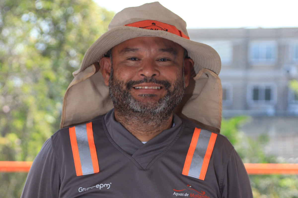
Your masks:
M276 61L277 44L275 41L254 41L249 47L252 64L270 64Z

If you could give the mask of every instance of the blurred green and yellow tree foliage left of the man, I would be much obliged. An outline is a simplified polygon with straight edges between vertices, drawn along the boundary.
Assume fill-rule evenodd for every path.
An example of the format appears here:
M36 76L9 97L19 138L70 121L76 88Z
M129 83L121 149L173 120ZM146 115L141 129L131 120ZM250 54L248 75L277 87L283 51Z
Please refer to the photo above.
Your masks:
M0 161L32 161L59 129L62 100L113 12L91 0L0 1ZM20 197L26 173L0 173L0 197Z

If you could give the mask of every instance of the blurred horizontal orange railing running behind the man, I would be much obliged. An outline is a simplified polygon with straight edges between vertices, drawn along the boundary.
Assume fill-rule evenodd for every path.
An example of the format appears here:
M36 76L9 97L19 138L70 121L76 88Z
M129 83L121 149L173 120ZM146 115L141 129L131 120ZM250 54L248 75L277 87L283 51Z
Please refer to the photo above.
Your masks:
M28 172L32 161L0 161L0 172ZM244 164L249 175L295 174L298 164Z

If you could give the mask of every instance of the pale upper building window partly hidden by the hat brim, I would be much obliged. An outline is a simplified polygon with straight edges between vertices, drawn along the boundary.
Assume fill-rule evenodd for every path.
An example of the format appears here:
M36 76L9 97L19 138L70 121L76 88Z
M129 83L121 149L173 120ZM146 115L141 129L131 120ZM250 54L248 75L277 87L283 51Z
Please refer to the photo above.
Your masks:
M232 62L233 47L230 41L198 41L213 47L221 57L221 64L229 65Z

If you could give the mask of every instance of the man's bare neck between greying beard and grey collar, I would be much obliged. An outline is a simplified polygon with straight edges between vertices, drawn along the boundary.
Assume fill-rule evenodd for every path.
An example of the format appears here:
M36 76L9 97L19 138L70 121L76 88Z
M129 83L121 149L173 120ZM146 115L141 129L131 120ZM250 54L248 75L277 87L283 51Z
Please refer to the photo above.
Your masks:
M173 113L168 119L155 122L144 122L144 119L139 116L128 115L123 111L115 109L115 119L121 123L131 134L133 134L141 142L148 142L156 135L160 134L166 129L170 129L172 126Z

